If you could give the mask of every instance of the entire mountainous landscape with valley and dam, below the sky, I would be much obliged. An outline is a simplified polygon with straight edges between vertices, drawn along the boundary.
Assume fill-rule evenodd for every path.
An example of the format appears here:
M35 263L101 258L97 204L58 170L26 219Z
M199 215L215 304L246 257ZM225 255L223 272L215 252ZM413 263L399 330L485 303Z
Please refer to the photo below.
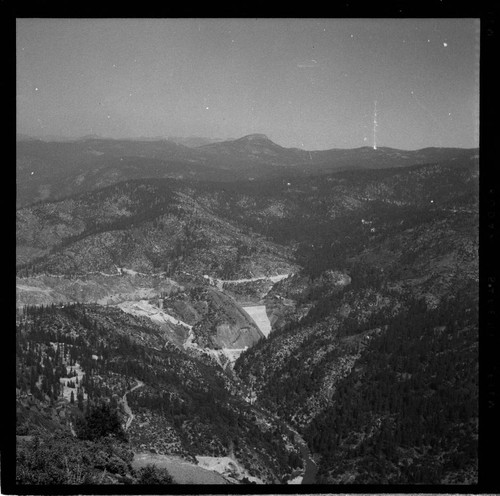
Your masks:
M478 156L21 137L19 480L476 482Z

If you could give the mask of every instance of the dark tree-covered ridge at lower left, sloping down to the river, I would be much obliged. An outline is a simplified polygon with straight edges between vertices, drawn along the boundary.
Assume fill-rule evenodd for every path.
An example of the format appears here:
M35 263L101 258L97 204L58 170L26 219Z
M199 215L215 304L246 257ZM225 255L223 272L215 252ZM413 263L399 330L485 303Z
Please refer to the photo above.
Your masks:
M264 421L217 364L189 356L166 341L159 328L118 309L25 307L18 318L17 363L18 401L25 405L18 410L19 435L45 439L47 429L54 428L70 435L73 424L77 437L94 441L82 419L109 405L123 426L127 417L121 399L129 391L130 408L147 422L134 422L126 435L121 428L104 429L116 430L116 442L129 451L173 450L195 462L195 455L226 456L234 450L240 460L248 459L255 475L277 482L297 466L298 448L276 437L279 424ZM143 387L131 391L137 381ZM27 409L31 398L39 405L35 416ZM160 425L163 432L156 430Z

